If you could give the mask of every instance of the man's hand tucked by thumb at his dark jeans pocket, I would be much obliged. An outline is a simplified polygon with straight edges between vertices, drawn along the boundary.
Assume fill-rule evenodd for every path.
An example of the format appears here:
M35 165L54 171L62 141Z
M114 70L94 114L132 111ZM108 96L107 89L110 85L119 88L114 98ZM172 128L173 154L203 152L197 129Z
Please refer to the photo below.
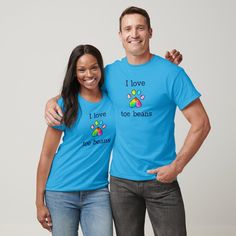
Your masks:
M175 162L172 162L170 165L162 166L154 170L148 170L147 172L149 174L156 174L156 179L163 183L173 182L177 178L177 175L180 173Z

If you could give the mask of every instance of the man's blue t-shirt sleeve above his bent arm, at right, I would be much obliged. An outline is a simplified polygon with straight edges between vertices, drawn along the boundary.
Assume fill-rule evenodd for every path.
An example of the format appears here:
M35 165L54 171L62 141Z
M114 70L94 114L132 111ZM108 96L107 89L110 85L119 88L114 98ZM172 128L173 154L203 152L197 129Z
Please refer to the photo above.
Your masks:
M201 94L183 69L177 74L172 87L172 99L180 110L199 98Z

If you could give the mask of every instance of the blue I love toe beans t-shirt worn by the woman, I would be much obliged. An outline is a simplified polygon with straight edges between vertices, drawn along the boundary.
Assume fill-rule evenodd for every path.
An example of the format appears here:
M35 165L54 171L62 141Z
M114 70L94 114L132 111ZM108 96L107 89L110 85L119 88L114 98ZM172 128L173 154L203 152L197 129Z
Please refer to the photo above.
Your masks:
M104 93L99 102L78 96L79 112L71 128L54 126L64 132L54 156L46 190L81 191L108 185L108 166L115 137L112 103ZM62 98L58 104L63 109Z

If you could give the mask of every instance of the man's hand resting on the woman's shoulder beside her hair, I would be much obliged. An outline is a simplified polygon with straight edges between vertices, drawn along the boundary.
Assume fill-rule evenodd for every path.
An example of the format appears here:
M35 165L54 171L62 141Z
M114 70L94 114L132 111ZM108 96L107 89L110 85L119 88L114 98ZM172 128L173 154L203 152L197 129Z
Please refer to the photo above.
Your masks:
M58 97L51 98L45 107L45 120L49 126L56 126L61 124L63 117L62 110L57 104Z

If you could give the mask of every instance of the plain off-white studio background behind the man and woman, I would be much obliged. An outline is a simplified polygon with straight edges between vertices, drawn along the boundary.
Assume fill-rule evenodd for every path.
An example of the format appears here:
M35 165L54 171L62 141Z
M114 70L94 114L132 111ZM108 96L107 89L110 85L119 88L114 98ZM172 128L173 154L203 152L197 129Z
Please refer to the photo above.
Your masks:
M71 50L124 56L118 18L128 6L151 17L151 51L177 48L202 93L212 130L179 177L190 236L236 235L235 1L0 0L0 235L48 235L36 220L35 174L44 106L59 93ZM189 126L176 116L178 148ZM147 218L146 234L153 235Z

